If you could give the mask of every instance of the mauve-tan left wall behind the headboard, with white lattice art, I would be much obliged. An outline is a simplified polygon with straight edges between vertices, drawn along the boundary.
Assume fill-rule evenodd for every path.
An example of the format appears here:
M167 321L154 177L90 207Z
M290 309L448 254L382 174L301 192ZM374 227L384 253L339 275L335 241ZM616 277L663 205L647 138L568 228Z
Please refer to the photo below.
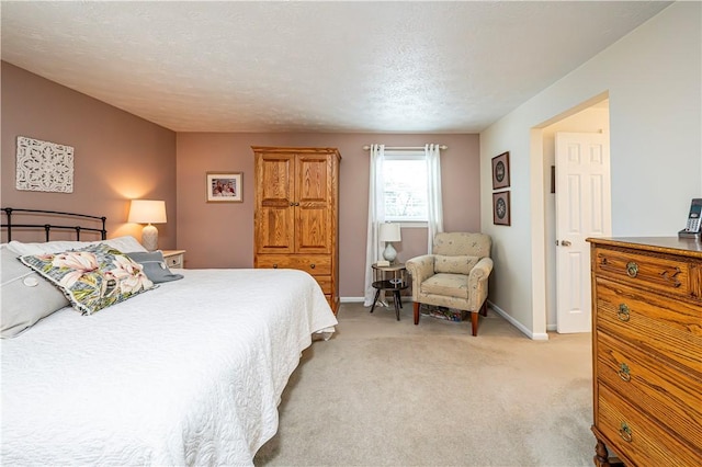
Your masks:
M139 239L141 227L126 224L128 200L165 200L168 224L157 226L159 247L176 247L173 132L4 61L1 76L3 207L106 216L109 237ZM15 189L18 136L75 148L72 193Z

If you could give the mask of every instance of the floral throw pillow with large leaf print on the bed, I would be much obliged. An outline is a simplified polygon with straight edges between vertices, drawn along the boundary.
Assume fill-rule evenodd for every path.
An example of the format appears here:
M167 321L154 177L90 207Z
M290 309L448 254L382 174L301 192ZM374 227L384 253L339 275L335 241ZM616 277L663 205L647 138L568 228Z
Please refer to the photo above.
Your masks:
M140 264L104 243L20 261L56 284L83 315L154 288Z

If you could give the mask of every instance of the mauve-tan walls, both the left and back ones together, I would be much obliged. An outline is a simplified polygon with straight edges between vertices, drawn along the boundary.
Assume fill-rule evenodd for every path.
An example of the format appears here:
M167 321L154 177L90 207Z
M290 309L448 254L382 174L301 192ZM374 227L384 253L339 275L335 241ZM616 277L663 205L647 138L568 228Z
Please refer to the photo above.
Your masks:
M18 136L75 148L73 193L15 190ZM338 147L342 156L340 293L342 297L362 297L369 186L369 152L363 146L372 143L448 145L449 150L442 155L444 228L480 230L477 135L177 135L2 62L2 206L104 215L107 216L109 237L134 235L140 238L140 227L126 224L128 201L136 197L166 200L168 223L157 226L159 247L188 250L186 267L253 265L251 146ZM244 203L205 202L205 173L225 170L244 172ZM403 229L403 241L396 244L398 259L405 261L423 253L426 242L424 229Z

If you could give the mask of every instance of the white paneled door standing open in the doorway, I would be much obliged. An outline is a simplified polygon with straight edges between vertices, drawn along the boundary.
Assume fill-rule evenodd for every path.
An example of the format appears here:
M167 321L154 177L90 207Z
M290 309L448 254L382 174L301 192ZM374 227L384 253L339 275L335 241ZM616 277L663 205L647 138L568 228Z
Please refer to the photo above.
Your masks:
M590 243L612 232L609 139L556 133L556 330L590 331Z

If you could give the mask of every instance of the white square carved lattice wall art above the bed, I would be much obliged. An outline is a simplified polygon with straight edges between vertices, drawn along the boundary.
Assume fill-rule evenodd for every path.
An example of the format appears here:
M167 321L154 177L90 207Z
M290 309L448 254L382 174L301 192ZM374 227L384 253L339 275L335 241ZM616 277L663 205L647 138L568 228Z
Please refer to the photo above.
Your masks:
M73 192L73 148L18 136L16 189Z

